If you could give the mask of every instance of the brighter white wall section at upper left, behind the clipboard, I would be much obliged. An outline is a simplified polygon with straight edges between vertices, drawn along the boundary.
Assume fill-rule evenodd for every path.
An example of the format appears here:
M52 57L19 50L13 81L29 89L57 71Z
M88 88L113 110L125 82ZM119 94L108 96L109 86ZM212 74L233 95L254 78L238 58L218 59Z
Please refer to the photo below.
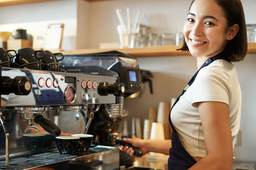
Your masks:
M65 24L63 49L76 48L77 1L61 0L0 7L0 31L26 29L35 39L45 38L49 24ZM44 46L43 46L44 47ZM17 49L15 49L17 50Z

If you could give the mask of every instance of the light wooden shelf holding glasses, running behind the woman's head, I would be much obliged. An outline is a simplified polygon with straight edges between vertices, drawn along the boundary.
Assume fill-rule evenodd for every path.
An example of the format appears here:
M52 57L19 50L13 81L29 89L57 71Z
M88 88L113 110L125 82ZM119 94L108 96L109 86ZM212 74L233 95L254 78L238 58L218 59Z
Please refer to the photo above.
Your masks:
M190 55L189 52L177 51L180 46L151 46L144 48L116 48L116 49L79 49L72 51L61 51L64 55L79 55L87 53L108 52L116 50L134 57L160 57ZM256 43L248 43L248 53L256 53Z

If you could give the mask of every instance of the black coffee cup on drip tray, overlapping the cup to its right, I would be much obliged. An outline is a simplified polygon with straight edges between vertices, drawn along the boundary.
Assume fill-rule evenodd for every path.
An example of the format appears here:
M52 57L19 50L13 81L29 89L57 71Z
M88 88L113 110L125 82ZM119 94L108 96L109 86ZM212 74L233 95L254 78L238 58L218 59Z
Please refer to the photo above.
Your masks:
M61 154L76 154L79 149L79 137L56 136L57 148Z

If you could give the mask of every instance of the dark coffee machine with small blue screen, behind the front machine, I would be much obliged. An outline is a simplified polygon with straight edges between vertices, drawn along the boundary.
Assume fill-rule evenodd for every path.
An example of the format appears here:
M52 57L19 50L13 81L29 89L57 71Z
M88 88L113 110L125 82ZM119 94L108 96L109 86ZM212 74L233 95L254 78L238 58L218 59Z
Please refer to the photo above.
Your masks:
M61 60L69 73L86 73L95 75L109 75L117 73L118 81L124 84L124 95L118 97L118 103L101 104L99 110L95 112L88 133L97 137L99 145L116 146L122 134L118 127L122 118L128 115L124 110L125 97L138 97L141 93L143 83L150 85L152 92L152 74L150 71L140 70L138 60L125 53L118 51L90 53L80 55L65 55ZM128 136L127 136L128 137ZM138 154L140 155L140 154ZM127 153L120 151L120 166L132 166L134 158Z

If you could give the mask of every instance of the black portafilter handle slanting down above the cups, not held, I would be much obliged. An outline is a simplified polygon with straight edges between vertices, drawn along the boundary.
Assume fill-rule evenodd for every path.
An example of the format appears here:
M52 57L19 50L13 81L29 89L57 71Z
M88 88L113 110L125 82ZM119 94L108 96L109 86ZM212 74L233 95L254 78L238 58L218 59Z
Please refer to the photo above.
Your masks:
M36 124L40 124L45 131L53 134L54 136L59 136L61 133L60 127L54 124L51 120L44 118L42 115L36 115L34 118Z

